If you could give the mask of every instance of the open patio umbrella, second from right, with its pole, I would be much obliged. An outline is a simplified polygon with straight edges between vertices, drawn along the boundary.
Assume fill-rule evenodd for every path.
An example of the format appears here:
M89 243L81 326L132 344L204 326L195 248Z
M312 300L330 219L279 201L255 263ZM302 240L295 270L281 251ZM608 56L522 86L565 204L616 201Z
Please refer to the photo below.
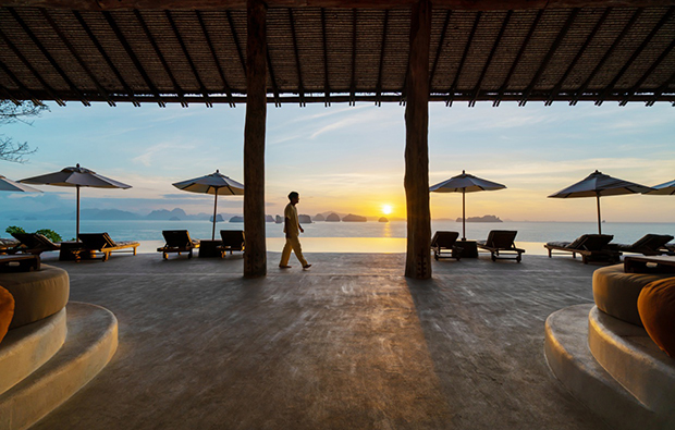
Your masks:
M596 197L598 201L598 234L602 234L601 218L600 218L600 197L602 196L618 196L622 194L637 194L647 193L652 191L645 185L636 184L624 180L618 180L610 175L603 174L599 171L594 171L589 174L588 177L577 182L574 185L568 186L565 189L561 189L557 193L550 195L549 197L556 198L575 198L575 197Z

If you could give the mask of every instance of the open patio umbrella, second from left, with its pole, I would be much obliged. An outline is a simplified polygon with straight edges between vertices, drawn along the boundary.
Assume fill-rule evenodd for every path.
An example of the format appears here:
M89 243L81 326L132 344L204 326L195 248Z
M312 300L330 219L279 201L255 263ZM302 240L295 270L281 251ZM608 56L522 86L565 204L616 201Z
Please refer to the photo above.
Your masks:
M79 241L79 188L90 186L95 188L131 188L131 185L102 176L93 170L81 168L76 164L74 168L65 168L60 172L47 173L39 176L26 177L19 182L27 184L44 184L56 186L74 186L77 189L77 223L75 238Z

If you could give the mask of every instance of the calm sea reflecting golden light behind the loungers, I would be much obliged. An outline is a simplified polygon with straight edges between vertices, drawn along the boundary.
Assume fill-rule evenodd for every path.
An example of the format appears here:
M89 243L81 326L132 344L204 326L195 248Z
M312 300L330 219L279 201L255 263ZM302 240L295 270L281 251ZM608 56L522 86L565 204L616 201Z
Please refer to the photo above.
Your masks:
M75 237L75 220L9 220L0 219L0 237L10 237L7 226L17 225L27 232L51 229L64 241ZM300 242L308 253L405 253L406 222L314 222L303 224ZM81 220L81 233L108 232L114 241L138 241L142 253L157 251L163 244L162 230L187 230L193 238L211 238L212 223L200 221L157 220ZM244 230L244 223L219 222L219 230ZM462 237L462 222L432 220L431 231L456 231ZM528 254L543 255L543 244L551 241L574 241L586 233L598 233L597 222L467 222L467 239L486 239L490 230L516 230L516 245ZM614 243L631 244L647 233L675 236L675 222L634 223L603 222L602 233L614 235ZM266 225L268 250L281 250L284 243L283 224Z

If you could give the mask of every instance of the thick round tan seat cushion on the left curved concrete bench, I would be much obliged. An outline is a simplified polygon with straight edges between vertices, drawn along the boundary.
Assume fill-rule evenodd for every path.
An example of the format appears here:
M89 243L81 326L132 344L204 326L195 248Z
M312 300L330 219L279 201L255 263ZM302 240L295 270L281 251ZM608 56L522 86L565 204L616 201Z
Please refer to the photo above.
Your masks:
M48 265L34 272L0 273L0 285L14 297L10 330L57 314L70 294L68 272Z

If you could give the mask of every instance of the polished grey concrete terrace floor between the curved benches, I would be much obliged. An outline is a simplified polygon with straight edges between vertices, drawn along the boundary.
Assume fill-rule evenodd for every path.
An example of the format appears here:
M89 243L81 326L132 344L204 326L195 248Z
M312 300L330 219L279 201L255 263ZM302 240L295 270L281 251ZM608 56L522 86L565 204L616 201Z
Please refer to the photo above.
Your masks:
M57 261L110 309L109 366L35 429L605 429L547 367L544 320L591 303L596 266L489 256L402 275L401 254L114 255Z

